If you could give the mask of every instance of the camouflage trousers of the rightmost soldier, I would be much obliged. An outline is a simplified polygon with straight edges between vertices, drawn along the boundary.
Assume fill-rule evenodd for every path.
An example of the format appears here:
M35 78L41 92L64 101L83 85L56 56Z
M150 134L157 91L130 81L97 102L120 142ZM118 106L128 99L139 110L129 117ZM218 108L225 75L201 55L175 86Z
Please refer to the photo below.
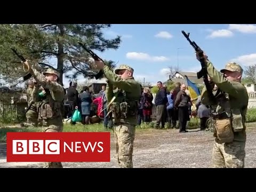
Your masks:
M218 143L214 141L213 167L214 168L244 168L245 141Z

